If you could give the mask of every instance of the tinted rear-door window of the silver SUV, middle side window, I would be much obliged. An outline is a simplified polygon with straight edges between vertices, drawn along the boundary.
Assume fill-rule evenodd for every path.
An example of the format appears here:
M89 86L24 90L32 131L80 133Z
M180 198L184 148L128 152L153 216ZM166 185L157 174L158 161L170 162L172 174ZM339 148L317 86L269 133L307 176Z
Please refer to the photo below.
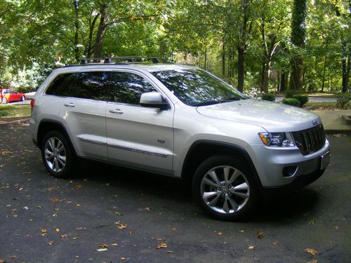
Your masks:
M110 72L79 72L74 97L90 100L111 99Z

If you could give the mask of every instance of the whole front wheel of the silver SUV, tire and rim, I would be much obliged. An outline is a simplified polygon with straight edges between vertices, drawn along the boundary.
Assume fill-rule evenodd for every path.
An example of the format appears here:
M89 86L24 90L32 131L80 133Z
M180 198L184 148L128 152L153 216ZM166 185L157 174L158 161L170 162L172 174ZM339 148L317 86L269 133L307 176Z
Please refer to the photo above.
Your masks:
M258 201L258 185L244 161L212 156L197 168L192 194L206 214L219 220L243 220Z

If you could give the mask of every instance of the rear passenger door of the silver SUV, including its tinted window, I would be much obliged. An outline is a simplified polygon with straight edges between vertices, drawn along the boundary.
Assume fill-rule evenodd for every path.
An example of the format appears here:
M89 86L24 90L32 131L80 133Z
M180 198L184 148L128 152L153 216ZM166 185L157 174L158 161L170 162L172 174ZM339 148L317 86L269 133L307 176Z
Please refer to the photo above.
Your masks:
M79 156L107 161L106 104L111 99L111 72L79 72L74 95L65 97L61 114Z

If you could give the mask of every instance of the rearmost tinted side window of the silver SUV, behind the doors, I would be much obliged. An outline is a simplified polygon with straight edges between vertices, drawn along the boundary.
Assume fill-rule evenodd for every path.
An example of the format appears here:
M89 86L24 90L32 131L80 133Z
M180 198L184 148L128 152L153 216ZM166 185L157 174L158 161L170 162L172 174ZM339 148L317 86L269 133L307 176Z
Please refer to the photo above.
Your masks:
M54 81L46 90L46 94L72 97L74 95L74 81L77 73L61 74L56 76Z

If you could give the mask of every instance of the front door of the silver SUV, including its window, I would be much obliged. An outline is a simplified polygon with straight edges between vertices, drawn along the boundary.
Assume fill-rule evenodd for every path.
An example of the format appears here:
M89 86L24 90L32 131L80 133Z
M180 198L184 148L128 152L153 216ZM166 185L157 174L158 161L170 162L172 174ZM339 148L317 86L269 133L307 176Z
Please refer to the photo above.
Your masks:
M157 91L140 72L114 72L113 82L114 98L106 109L109 160L171 174L173 107L160 110L139 105L142 93Z

